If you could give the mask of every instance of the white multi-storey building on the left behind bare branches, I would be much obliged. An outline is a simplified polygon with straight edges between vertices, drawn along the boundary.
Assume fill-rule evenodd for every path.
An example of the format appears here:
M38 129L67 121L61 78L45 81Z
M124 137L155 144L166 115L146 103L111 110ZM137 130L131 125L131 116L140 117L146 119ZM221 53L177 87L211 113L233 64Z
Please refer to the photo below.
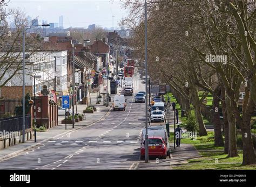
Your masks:
M3 55L5 54L0 54L0 59ZM22 66L22 53L13 53L11 55L17 55L17 64ZM36 95L41 95L43 85L47 86L49 93L51 93L50 90L56 90L57 92L68 91L66 51L33 53L25 52L25 56L25 87L31 87L29 89L31 94L34 94L35 89ZM15 73L16 70L17 68L15 68L14 65L14 68L10 68L9 71L4 74L0 82L5 82L11 75L15 74L11 80L8 81L5 87L16 87L18 89L18 93L20 93L23 86L23 69L21 68ZM34 87L35 75L39 75L41 77L35 78Z

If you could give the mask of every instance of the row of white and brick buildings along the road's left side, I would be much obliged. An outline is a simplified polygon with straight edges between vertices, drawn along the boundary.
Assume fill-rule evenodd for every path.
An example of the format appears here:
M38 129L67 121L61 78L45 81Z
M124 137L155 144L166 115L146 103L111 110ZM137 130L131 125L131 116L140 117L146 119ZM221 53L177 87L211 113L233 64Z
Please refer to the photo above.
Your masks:
M99 85L99 81L95 82L95 80L100 79L102 70L110 62L110 45L105 38L94 41L92 45L87 45L86 41L72 40L68 33L50 33L49 37L44 38L44 45L48 50L25 52L25 93L30 93L30 95L36 93L37 96L40 96L43 85L48 87L49 95L52 98L55 98L54 95L59 99L63 95L71 95L73 93L73 61L75 93L77 101L80 101L87 96L88 88L91 85L95 83ZM3 55L5 54L2 52L1 56ZM22 61L22 53L17 53L17 55L19 55L17 61ZM10 69L1 78L0 81L3 83L10 75L15 74L0 89L0 97L5 99L22 97L22 69L16 73L15 70L15 68Z

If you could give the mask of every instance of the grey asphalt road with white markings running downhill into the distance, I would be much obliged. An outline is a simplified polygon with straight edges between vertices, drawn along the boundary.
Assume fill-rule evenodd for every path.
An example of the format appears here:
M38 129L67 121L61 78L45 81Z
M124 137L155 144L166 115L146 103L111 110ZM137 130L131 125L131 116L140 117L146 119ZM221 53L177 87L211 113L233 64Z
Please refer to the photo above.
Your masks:
M138 74L134 81L135 93L145 90ZM125 111L111 110L98 123L1 161L0 169L171 169L170 159L139 160L145 103L126 99Z

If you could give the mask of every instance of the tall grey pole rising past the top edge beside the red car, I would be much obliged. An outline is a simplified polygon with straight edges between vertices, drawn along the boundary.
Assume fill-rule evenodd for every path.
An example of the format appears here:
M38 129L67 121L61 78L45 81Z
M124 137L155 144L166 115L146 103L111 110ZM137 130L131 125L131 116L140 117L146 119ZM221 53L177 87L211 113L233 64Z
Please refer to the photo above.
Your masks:
M145 0L145 71L146 71L146 134L145 134L145 162L149 162L149 135L147 134L147 0Z

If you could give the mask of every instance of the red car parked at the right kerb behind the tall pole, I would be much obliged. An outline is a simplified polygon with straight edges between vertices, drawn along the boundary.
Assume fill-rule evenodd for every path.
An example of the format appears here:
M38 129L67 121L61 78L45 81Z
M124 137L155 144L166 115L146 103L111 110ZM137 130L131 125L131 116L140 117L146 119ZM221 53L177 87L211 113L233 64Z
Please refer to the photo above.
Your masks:
M149 156L160 156L166 159L167 146L162 137L149 137ZM145 158L145 141L140 147L140 159Z

